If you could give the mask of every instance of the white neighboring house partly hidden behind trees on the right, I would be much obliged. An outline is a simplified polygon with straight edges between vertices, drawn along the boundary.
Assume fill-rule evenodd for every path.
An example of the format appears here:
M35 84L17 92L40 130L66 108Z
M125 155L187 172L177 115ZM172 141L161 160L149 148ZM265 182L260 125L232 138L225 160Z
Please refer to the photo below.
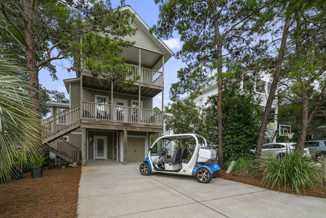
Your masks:
M270 86L271 86L271 81L273 78L271 78L270 75L264 74L262 77L258 80L258 82L251 81L251 83L248 84L243 84L241 81L239 83L239 90L244 93L246 92L245 89L253 89L255 92L255 98L260 99L261 103L261 109L264 111L266 107L266 102L268 99L268 94L270 91ZM244 88L246 87L246 88ZM212 84L204 87L201 90L201 94L199 94L193 101L196 103L197 106L203 106L205 107L205 103L208 100L209 96L216 95L218 94L218 83L213 82ZM184 99L189 98L189 95L186 96ZM277 113L278 113L278 107L277 107L277 100L273 102L272 108L271 108L271 113L274 113L274 120L270 120L270 122L267 124L266 127L266 137L267 139L273 137L273 133L275 134L275 131L277 129ZM266 141L269 142L269 141Z

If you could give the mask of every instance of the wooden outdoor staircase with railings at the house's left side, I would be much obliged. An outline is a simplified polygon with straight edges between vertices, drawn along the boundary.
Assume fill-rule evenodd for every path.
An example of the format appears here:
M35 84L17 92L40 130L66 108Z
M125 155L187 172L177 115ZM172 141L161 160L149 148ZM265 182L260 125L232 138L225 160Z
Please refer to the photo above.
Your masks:
M42 144L67 161L80 161L79 148L61 137L80 127L80 105L42 120Z

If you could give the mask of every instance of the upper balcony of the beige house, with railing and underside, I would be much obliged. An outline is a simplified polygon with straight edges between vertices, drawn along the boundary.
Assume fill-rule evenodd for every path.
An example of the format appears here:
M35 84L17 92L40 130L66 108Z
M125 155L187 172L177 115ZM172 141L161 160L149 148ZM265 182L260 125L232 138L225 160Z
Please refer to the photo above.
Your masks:
M139 88L141 88L141 96L148 98L153 98L163 90L163 72L130 64L126 65L131 72L131 75L127 79L134 80L135 82L133 84L125 83L123 86L121 86L121 84L112 84L106 81L103 77L94 78L92 72L87 71L84 68L82 71L83 87L106 91L112 91L113 88L114 92L132 95L138 95Z

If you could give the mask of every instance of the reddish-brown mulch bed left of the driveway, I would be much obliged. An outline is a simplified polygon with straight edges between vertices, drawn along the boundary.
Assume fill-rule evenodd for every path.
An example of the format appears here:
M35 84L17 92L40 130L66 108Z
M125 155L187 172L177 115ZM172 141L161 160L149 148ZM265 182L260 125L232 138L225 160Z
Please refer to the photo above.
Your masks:
M31 173L0 185L0 217L77 217L81 166Z

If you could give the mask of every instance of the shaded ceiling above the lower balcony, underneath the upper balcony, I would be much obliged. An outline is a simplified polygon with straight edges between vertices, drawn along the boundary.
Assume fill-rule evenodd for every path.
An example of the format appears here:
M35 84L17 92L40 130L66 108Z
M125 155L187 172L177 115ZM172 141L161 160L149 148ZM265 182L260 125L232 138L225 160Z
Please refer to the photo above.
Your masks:
M83 88L91 88L97 90L111 91L111 83L104 79L83 76ZM139 84L113 84L114 92L138 95ZM141 85L141 96L154 98L162 91L162 88L154 87L146 84Z

